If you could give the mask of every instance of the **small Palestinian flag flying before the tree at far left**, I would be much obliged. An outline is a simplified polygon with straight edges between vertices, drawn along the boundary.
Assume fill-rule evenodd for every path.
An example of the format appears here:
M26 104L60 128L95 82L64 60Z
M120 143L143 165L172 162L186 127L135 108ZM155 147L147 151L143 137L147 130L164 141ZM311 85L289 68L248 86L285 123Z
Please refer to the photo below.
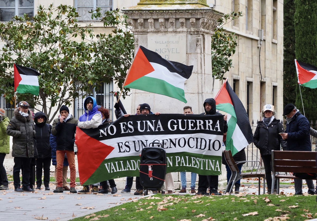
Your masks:
M14 64L14 91L25 94L30 93L36 96L39 95L39 80L37 76L40 75L33 68L26 68Z

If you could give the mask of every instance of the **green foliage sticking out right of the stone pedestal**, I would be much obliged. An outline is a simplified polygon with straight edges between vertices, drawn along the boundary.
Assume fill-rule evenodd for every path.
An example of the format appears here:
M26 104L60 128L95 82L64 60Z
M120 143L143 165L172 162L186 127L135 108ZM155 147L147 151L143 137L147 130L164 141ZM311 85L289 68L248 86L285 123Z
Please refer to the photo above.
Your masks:
M236 53L237 46L235 33L226 31L223 26L240 16L243 16L242 12L231 12L219 18L215 34L211 36L212 75L216 79L222 79L223 74L232 67L230 57Z

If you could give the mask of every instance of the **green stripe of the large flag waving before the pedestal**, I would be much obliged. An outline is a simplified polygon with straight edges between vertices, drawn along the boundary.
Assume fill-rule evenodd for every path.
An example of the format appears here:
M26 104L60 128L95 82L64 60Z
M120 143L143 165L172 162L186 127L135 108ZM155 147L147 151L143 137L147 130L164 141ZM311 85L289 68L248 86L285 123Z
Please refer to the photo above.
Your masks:
M182 88L177 88L166 81L157 78L144 76L126 85L125 88L135 88L155 94L163 94L187 103Z

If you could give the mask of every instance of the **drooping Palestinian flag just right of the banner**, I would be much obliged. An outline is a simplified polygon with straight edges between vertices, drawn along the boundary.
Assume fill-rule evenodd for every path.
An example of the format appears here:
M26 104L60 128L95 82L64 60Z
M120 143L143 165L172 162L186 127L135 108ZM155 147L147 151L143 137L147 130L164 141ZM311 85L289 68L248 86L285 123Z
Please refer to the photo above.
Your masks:
M226 150L231 150L232 155L235 155L253 142L249 117L240 99L230 87L228 79L220 88L215 101L217 110L228 114Z

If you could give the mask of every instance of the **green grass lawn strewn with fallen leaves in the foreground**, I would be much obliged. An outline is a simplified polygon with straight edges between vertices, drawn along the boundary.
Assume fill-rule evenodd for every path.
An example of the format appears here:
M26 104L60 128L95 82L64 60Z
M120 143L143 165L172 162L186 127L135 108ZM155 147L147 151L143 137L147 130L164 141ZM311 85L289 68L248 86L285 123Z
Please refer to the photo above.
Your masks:
M275 218L275 219L274 219ZM161 195L133 200L79 220L307 220L317 218L316 196Z

